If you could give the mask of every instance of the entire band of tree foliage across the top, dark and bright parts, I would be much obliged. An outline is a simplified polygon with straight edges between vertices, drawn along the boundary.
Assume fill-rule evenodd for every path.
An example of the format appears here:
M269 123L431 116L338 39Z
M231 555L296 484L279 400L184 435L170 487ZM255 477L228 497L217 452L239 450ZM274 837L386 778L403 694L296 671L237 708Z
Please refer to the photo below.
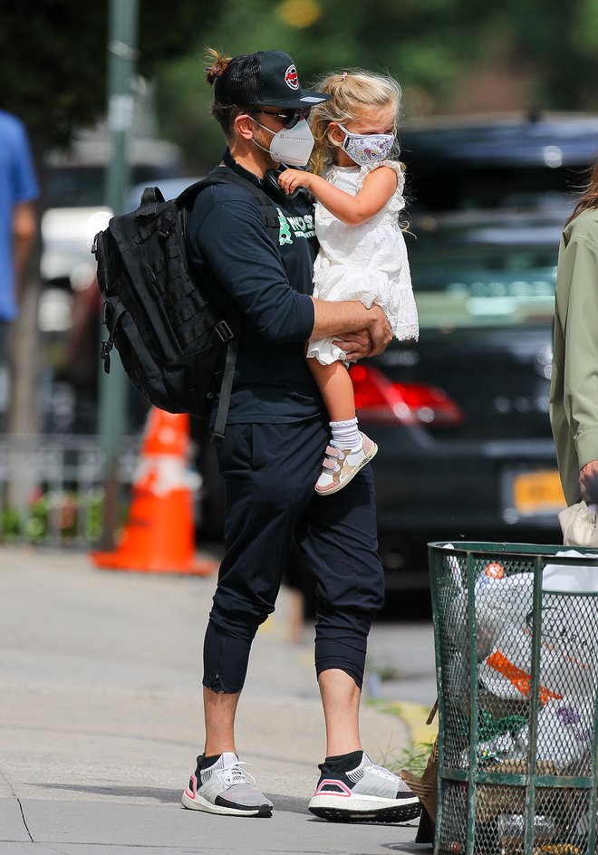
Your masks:
M34 139L63 144L105 110L109 0L0 0L0 106ZM279 48L304 81L333 68L388 70L406 110L444 111L497 44L528 85L530 107L596 109L598 0L140 0L139 71L158 77L163 133L197 167L221 143L208 118L203 53ZM178 59L178 57L182 57ZM36 147L37 148L37 147Z

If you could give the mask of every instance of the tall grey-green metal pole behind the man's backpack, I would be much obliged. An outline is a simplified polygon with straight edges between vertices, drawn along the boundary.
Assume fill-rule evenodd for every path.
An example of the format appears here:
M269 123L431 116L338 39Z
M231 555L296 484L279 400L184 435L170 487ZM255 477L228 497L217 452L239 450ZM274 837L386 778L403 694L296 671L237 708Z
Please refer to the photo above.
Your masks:
M111 0L108 27L108 131L111 156L106 168L106 205L125 210L130 186L130 138L133 128L133 82L137 56L138 0ZM116 351L111 372L101 370L100 435L105 459L101 546L111 550L119 512L119 451L126 425L127 379Z

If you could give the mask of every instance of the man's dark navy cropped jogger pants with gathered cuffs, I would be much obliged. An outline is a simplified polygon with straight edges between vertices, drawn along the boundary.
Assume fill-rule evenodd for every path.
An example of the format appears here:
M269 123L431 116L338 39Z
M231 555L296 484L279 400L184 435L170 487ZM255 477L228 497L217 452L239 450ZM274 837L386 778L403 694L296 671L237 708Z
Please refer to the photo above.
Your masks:
M329 428L227 425L218 449L226 482L225 557L204 642L204 686L243 687L257 628L275 610L296 538L316 580L315 667L341 668L362 687L371 620L383 604L371 466L334 495L313 486Z

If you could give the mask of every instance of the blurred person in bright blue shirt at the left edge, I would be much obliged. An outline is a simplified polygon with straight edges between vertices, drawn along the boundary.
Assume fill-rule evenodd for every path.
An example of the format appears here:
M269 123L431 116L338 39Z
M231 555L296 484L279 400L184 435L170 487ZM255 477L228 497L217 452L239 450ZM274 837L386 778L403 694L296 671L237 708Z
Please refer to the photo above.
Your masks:
M0 110L0 362L8 326L18 312L19 287L34 245L39 195L23 122Z

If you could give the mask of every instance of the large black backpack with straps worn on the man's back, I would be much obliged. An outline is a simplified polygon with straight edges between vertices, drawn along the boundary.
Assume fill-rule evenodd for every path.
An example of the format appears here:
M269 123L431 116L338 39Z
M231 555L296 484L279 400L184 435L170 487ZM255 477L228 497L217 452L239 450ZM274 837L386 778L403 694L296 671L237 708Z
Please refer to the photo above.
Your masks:
M133 386L150 404L197 418L209 417L220 392L218 438L227 424L241 319L234 308L222 317L189 272L185 228L198 193L227 182L254 198L278 245L271 200L249 181L217 168L169 201L159 187L147 187L140 207L113 216L92 247L108 329L101 343L104 370L110 372L115 346Z

